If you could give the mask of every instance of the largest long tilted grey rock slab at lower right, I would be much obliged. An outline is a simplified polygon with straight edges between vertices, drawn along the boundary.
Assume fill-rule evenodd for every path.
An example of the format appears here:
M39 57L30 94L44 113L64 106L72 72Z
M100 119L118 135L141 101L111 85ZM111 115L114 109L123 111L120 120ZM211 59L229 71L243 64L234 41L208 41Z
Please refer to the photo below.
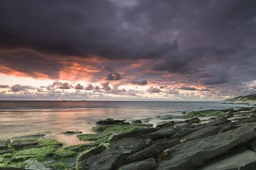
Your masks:
M250 141L255 136L253 130L255 127L255 125L243 125L205 139L181 143L173 147L170 154L157 163L157 169L195 169L206 160L213 159L237 145Z

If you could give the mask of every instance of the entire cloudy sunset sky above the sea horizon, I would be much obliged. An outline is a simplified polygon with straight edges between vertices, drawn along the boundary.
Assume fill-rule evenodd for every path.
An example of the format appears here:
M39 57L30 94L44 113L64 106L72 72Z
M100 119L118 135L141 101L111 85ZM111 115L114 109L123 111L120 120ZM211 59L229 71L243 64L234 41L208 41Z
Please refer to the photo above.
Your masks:
M0 0L1 100L256 94L255 0Z

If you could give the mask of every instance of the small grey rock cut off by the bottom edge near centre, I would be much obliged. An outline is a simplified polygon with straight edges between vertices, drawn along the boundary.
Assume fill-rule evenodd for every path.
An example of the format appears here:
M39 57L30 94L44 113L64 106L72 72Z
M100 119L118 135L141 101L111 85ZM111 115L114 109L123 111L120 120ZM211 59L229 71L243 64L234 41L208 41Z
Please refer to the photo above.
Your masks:
M156 160L153 158L133 162L118 168L118 170L150 170L156 167Z

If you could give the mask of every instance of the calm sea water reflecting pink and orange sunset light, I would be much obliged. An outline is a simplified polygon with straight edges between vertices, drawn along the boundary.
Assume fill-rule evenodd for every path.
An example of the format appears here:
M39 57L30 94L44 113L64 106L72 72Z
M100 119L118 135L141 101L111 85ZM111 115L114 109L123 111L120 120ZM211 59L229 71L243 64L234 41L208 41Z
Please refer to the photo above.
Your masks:
M149 123L156 124L157 115L241 106L244 105L191 101L0 101L0 138L49 131L49 136L63 140L63 136L56 134L65 131L88 133L95 122L105 118L128 121L153 118Z

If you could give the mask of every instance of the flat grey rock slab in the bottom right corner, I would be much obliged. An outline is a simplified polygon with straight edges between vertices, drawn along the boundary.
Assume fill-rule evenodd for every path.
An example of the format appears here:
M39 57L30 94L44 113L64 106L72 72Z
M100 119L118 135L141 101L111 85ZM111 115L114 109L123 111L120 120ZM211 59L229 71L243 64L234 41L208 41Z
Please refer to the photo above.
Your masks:
M216 170L216 169L255 169L256 153L252 150L239 149L234 150L225 155L221 155L217 159L207 162L198 170Z

